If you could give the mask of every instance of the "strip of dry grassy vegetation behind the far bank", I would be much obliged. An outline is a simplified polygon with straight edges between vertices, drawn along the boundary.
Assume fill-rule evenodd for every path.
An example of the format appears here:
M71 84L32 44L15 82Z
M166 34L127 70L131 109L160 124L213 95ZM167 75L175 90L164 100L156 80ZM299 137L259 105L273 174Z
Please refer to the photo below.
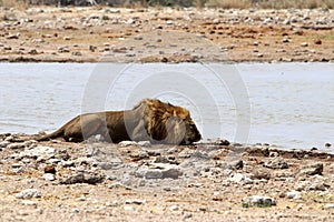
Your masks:
M31 4L47 6L90 6L89 0L0 0L0 7ZM259 8L259 9L334 9L333 0L96 0L96 3L110 7L213 7L213 8Z

